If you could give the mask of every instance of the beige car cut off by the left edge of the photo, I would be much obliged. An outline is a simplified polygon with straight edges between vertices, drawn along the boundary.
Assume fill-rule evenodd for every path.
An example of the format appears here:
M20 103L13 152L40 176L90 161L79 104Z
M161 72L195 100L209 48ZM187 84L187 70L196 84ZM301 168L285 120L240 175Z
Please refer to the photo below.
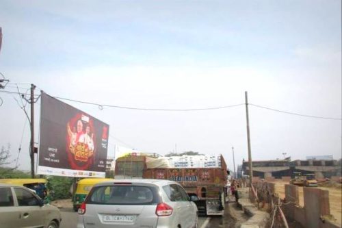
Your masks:
M57 228L62 216L57 207L44 205L29 188L0 183L0 221L1 228Z

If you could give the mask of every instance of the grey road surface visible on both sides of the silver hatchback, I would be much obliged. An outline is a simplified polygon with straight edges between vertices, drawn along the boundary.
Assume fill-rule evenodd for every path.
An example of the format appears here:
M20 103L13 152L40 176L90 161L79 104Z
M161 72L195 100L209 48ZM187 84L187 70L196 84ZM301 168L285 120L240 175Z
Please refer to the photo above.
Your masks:
M77 225L77 212L73 208L60 208L62 212L62 223L60 228L75 228ZM231 219L229 219L231 221ZM231 223L230 225L228 223ZM232 222L226 222L226 216L222 217L199 217L198 228L233 227Z

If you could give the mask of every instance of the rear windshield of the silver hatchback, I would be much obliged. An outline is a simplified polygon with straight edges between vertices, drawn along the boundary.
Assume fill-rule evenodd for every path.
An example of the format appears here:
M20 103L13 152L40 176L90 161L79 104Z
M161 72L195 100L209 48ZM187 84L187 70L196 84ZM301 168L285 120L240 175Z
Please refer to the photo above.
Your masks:
M98 186L86 203L108 205L151 205L159 203L157 190L147 186Z

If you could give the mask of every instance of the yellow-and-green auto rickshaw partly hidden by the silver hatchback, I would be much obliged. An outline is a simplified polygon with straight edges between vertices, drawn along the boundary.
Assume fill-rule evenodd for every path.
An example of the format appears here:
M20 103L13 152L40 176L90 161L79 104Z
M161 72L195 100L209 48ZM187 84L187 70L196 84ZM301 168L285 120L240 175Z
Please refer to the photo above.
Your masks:
M75 192L73 193L73 208L75 212L79 209L79 206L86 199L87 194L96 183L103 181L112 181L110 178L84 178L77 181L75 186Z

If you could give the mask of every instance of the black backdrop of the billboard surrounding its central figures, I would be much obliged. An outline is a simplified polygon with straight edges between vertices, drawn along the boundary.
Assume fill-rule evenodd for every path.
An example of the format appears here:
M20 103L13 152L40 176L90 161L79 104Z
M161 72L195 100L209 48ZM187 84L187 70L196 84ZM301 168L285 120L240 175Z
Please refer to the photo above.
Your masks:
M40 118L38 166L105 172L109 125L44 92L42 92ZM84 119L88 119L88 123ZM70 149L68 125L73 131L79 120L92 128L94 151L90 156L90 153L73 153L74 150ZM76 154L86 154L87 156L83 157L88 158L79 160L80 156L75 156Z

